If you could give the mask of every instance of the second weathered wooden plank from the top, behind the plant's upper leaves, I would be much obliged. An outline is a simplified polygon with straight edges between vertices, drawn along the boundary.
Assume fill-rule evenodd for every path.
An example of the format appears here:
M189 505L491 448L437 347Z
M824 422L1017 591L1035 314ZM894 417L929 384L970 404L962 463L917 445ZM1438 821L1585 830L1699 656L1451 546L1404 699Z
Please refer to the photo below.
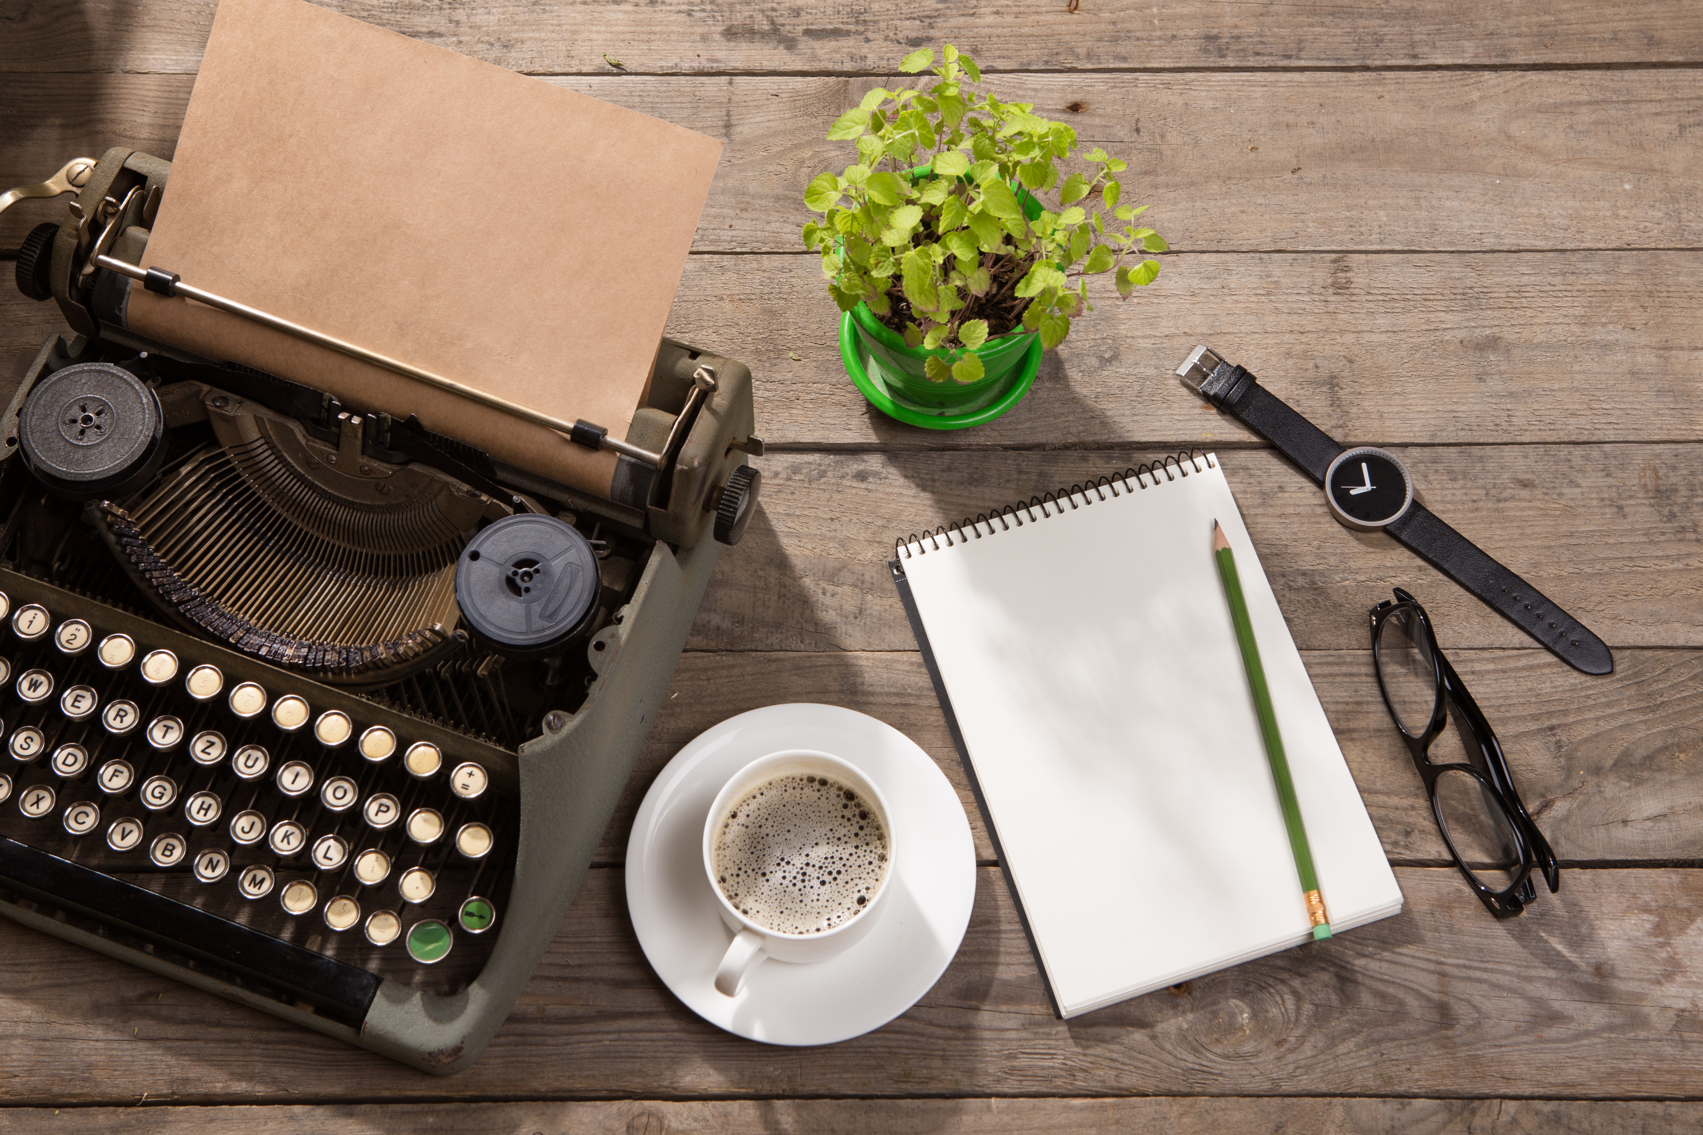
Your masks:
M877 80L548 82L727 143L700 252L799 252L806 184L852 155L828 124ZM111 145L169 158L189 88L0 75L0 184ZM1127 158L1124 201L1153 204L1177 250L1703 245L1703 71L1005 75L996 92Z

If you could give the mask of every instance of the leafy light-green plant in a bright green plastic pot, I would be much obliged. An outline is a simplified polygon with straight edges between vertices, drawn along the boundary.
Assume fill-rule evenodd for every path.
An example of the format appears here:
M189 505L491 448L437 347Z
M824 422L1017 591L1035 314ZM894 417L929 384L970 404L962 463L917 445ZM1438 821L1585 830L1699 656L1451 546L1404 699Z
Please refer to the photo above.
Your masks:
M1092 311L1088 276L1119 298L1151 284L1165 240L1121 204L1127 162L1095 146L1073 172L1076 131L1032 102L971 92L981 70L945 44L899 70L926 90L875 88L828 131L857 162L817 174L804 226L841 310L840 354L872 405L932 429L989 422L1035 379L1041 352Z

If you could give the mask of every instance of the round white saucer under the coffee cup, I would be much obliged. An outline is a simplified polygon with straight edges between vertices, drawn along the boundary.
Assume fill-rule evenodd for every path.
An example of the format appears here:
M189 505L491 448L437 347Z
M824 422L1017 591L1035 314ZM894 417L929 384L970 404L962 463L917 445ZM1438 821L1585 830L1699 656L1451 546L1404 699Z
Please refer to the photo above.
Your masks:
M901 847L892 893L838 958L768 960L724 997L715 967L734 936L703 875L703 820L727 778L782 749L831 752L880 786ZM700 733L657 774L627 842L627 909L657 977L705 1021L770 1045L831 1045L915 1006L957 953L974 902L976 849L945 774L899 730L840 706L765 706Z

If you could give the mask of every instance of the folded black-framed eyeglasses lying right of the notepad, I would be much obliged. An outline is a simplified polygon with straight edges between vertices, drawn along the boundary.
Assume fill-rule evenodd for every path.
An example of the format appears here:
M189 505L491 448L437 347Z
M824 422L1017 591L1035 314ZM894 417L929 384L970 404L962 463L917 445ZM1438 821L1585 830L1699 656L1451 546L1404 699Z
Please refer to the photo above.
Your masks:
M1550 892L1562 887L1550 841L1521 803L1495 732L1442 657L1425 607L1396 587L1395 601L1371 614L1378 687L1431 793L1442 841L1490 914L1512 917L1536 900L1533 868ZM1444 735L1449 708L1456 737Z

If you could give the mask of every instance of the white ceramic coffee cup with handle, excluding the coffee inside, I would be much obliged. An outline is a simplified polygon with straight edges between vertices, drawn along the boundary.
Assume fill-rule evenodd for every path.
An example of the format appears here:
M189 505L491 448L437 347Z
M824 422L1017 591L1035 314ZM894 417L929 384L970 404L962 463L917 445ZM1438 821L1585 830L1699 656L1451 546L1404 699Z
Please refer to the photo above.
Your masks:
M882 832L887 836L887 871L882 875L880 888L869 900L869 905L857 917L814 934L788 934L746 917L727 900L727 895L715 880L715 836L720 832L727 812L753 788L780 776L826 776L829 781L846 784L874 808ZM892 881L892 864L897 854L889 815L887 800L880 795L880 790L855 766L826 752L787 749L758 757L734 773L732 779L717 793L715 803L710 805L710 815L703 822L703 873L710 883L710 890L715 892L717 902L720 902L722 922L727 924L727 929L734 931L734 941L727 946L727 953L715 970L715 989L719 992L729 997L736 995L739 987L744 985L746 975L761 965L765 958L794 963L826 961L845 953L870 933L879 915L880 900Z

